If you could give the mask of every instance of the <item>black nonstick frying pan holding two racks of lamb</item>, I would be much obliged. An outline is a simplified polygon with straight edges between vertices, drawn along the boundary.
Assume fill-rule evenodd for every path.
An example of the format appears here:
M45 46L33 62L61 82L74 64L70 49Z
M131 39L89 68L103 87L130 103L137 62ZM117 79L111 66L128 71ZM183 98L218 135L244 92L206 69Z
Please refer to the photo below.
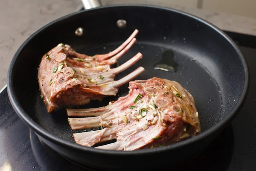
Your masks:
M126 25L118 27L118 20L125 20ZM79 27L83 28L80 37L75 35ZM137 80L155 76L179 82L195 98L202 133L169 146L137 151L108 151L74 143L65 110L47 113L40 98L37 68L41 57L59 43L87 55L108 53L135 29L139 30L137 43L118 63L138 52L143 58L115 79L142 66L145 71ZM175 62L175 72L154 69L163 57L166 62ZM161 170L194 157L221 133L244 101L248 81L247 64L239 48L214 25L175 9L130 4L74 12L36 31L15 53L7 89L17 115L44 143L67 159L98 170ZM108 101L127 94L128 83L115 97L83 107L106 106Z

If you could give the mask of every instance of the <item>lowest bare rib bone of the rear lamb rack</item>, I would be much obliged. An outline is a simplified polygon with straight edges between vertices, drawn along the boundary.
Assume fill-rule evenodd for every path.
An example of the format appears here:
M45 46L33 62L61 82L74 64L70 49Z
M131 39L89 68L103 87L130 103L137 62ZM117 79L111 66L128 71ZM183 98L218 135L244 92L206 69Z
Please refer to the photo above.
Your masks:
M131 81L132 79L134 79L135 77L137 77L138 75L140 75L140 73L142 73L145 69L143 67L138 67L136 70L134 70L133 72L129 73L127 76L119 79L118 81L113 81L111 82L111 84L113 84L113 87L120 87L123 84Z

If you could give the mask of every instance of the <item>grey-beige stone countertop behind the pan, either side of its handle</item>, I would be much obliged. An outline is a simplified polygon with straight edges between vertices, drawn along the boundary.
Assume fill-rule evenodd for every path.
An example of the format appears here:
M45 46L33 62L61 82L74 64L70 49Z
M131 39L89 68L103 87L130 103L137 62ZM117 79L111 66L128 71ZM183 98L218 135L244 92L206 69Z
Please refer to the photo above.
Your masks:
M102 5L140 3L165 6L194 14L226 30L256 35L256 19L173 5L168 0L101 0ZM6 84L7 70L17 49L45 24L77 11L81 0L1 0L0 5L0 89Z

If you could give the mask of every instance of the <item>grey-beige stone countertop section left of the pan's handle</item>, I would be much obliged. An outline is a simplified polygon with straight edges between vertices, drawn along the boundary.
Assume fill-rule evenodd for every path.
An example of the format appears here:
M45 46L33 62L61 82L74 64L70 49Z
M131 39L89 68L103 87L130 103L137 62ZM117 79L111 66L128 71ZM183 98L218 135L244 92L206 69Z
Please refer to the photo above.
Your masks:
M0 89L17 49L52 20L78 10L80 0L0 0Z

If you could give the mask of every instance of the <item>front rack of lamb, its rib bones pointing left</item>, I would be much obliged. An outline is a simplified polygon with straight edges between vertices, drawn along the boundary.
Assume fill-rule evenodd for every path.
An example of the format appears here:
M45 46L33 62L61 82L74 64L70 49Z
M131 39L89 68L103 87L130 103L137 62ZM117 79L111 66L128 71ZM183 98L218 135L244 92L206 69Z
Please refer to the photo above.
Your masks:
M161 78L130 81L129 94L94 109L67 109L71 129L103 126L73 134L76 143L95 148L131 151L167 146L201 133L195 101L176 81ZM70 117L84 118L70 118ZM89 117L90 116L90 117Z

